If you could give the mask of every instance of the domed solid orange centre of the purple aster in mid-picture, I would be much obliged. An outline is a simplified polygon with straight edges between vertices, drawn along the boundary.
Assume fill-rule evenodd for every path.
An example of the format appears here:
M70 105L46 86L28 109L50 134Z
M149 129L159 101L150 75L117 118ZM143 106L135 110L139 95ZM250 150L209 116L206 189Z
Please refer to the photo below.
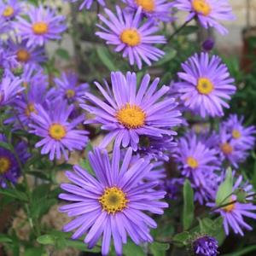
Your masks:
M136 129L145 124L146 113L137 105L130 105L127 103L125 107L120 108L116 113L116 118L119 123L129 129Z

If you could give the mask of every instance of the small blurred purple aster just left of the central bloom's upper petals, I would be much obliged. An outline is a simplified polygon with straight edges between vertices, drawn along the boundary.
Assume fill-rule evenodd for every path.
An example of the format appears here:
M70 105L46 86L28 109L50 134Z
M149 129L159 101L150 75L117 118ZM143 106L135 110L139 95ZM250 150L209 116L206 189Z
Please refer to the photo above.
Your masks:
M61 73L61 78L55 80L56 88L49 91L49 96L53 98L61 97L68 102L81 102L84 93L89 90L89 84L79 84L79 78L76 73Z

